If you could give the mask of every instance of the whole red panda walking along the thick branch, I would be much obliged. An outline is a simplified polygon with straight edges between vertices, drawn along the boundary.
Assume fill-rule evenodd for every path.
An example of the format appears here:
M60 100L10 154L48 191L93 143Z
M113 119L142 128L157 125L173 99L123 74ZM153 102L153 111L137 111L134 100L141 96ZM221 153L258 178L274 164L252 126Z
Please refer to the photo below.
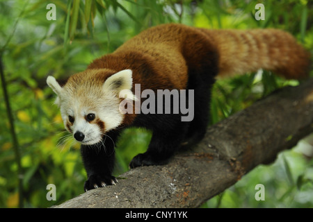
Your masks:
M147 151L131 160L131 168L165 164L182 144L194 144L204 136L216 76L262 68L286 78L305 78L309 65L309 53L284 31L209 30L163 24L94 60L65 84L52 76L48 76L47 84L57 95L66 130L81 143L87 191L117 182L112 176L114 148L122 129L138 126L152 130ZM149 109L154 106L161 111L165 105L173 110L182 95L169 104L158 103L164 96L157 94L158 90L190 90L193 94L186 94L184 103L193 106L193 119L182 121L181 110L175 114L136 112L138 101L143 105L152 98L149 93L138 98L136 85L141 96L145 90L155 92L155 102L150 100ZM122 112L123 106L134 112Z

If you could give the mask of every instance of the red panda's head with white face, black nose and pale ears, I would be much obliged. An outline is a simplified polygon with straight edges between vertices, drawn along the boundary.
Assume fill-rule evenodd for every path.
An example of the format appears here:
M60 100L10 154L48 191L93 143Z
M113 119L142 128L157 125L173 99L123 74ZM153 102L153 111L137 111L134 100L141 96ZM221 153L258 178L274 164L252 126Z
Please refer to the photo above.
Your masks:
M125 117L120 111L121 99L136 99L131 92L129 69L117 73L87 69L70 76L63 86L48 76L47 84L57 95L55 103L61 110L65 129L84 145L100 142L106 132L120 126Z

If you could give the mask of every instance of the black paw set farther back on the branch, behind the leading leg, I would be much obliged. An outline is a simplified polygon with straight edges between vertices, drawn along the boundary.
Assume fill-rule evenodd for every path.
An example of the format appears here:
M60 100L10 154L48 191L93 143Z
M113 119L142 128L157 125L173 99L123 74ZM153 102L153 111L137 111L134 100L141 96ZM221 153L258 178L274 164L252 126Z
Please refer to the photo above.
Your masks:
M159 158L157 155L150 155L149 153L140 153L136 155L129 164L129 168L151 166L151 165L163 165L168 162L168 159Z

